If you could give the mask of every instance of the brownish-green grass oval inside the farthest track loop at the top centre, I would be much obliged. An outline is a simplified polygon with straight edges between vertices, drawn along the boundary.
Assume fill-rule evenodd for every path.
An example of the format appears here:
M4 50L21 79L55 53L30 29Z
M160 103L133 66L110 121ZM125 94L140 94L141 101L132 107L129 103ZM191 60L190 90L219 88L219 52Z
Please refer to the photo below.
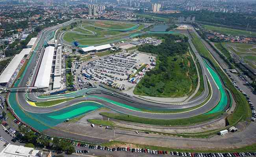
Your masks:
M94 23L94 26L108 29L127 29L135 26L135 24L114 21L97 21Z

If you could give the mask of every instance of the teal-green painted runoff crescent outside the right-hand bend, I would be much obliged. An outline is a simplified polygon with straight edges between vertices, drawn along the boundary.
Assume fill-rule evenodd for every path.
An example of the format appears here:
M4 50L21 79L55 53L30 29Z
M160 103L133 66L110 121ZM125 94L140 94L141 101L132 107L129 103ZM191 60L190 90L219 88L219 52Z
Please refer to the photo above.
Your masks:
M217 73L213 69L211 69L211 67L207 64L207 62L205 60L204 60L204 64L206 65L206 68L210 71L211 76L215 80L215 82L219 88L219 91L221 92L221 99L219 100L219 103L212 110L208 111L205 114L221 112L224 110L224 108L226 107L226 105L228 103L228 98L227 98L226 92L221 83L221 79L219 78Z

